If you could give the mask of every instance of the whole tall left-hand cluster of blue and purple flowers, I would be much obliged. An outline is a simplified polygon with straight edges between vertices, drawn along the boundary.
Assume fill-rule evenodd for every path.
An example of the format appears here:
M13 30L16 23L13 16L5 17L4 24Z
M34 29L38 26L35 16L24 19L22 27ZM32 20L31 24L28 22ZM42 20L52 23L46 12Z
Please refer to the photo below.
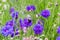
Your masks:
M18 11L15 11L13 7L10 8L10 15L12 16L12 20L7 21L4 27L1 29L1 34L3 36L8 36L10 35L13 37L14 35L18 35L19 32L18 30L15 31L15 26L16 26L16 21L15 19L18 18Z

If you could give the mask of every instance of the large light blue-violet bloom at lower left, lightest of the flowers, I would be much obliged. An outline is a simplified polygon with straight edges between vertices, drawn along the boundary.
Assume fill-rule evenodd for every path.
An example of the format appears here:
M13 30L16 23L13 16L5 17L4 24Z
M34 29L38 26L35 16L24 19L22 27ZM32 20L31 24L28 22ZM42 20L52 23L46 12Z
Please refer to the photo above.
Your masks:
M12 33L12 31L14 31L14 27L13 25L10 23L11 21L8 22L8 24L6 24L2 29L1 29L1 33L4 36L8 36L9 34ZM10 25L11 24L11 25Z

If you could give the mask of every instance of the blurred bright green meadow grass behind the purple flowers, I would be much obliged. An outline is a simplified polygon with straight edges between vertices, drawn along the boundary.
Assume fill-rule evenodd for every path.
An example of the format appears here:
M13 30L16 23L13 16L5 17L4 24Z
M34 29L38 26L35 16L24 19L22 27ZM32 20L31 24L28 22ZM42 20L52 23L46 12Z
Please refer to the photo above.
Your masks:
M15 10L19 11L19 18L27 17L27 15L31 15L33 19L33 25L36 24L36 21L38 19L44 20L44 32L43 34L45 36L38 35L37 37L42 38L48 38L48 40L56 40L56 37L58 36L56 29L58 26L60 26L60 16L58 16L58 13L60 13L60 0L7 0L6 2L2 2L0 0L0 3L2 6L0 6L0 11L4 12L3 16L0 16L0 19L2 21L1 25L5 25L5 23L11 19L11 16L9 15L9 9L10 7L15 7ZM56 3L58 3L58 6L56 6ZM4 10L3 5L8 4L9 7L7 7L6 10ZM27 5L35 5L36 10L32 12L26 11ZM45 19L43 17L36 18L36 14L39 14L42 10L49 9L51 12L51 15L48 19ZM54 26L55 25L55 26ZM32 27L29 29L28 33L25 36L34 35L32 31ZM43 35L42 34L42 35ZM20 32L20 37L14 37L13 40L22 40L23 32ZM0 40L11 40L10 37L4 37L0 34Z

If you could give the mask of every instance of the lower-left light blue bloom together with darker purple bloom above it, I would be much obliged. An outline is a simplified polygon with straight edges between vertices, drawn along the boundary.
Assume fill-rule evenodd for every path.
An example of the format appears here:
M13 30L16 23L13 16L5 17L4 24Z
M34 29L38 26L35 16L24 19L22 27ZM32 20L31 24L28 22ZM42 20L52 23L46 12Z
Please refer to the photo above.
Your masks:
M3 36L8 36L9 34L11 34L14 31L14 24L15 24L15 21L14 20L8 21L4 25L4 27L1 29L1 34Z

